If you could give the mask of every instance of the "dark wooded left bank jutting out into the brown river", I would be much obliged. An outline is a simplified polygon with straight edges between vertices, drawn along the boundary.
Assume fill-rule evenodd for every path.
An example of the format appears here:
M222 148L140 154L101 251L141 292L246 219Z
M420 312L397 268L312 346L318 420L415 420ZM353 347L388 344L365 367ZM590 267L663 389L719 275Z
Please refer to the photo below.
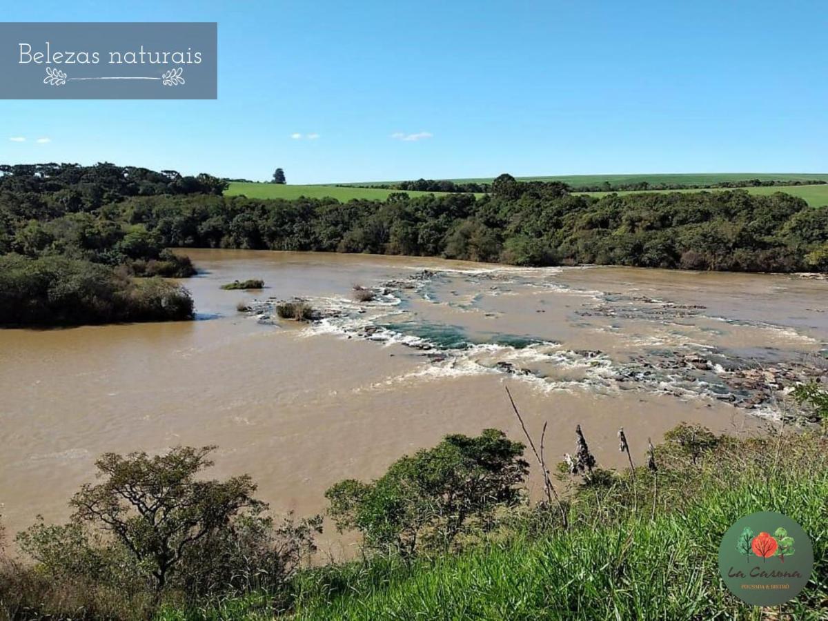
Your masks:
M190 276L190 260L102 209L129 196L220 195L225 185L112 164L0 166L0 324L191 318L183 287L136 279Z

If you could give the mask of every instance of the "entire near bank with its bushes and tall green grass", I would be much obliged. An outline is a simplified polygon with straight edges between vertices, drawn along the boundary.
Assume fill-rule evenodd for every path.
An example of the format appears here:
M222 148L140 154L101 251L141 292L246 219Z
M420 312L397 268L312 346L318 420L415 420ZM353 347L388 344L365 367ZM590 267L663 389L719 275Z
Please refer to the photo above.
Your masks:
M803 398L820 395L809 389ZM209 447L153 458L104 455L98 462L103 479L75 495L79 521L65 527L38 522L18 537L37 565L0 560L0 618L758 619L759 609L724 588L717 563L724 532L760 510L800 522L814 549L811 581L774 614L824 618L828 429L737 440L681 426L668 437L653 450L650 467L616 472L592 465L577 475L561 474L564 527L554 503L509 508L513 503L504 498L489 513L489 493L514 493L522 480L521 467L513 469L517 443L496 431L448 436L434 449L399 460L372 489L348 484L346 495L363 512L351 523L374 533L383 516L395 524L412 519L439 534L440 520L447 518L448 525L453 512L467 506L465 496L450 492L460 488L484 501L482 522L461 525L450 546L407 546L403 554L395 546L374 546L385 552L304 569L320 523L262 521L248 478L203 481L196 474L209 465ZM157 487L159 477L180 484ZM483 480L479 489L468 487ZM419 490L413 512L406 489ZM475 489L481 495L474 496ZM116 498L121 500L110 503ZM156 514L142 508L147 500L168 505L170 517L153 521ZM225 509L229 519L215 520ZM113 537L87 530L86 519ZM123 531L122 522L128 525ZM203 528L212 534L175 557L159 547L165 538L152 536L170 531L184 542ZM119 543L124 541L134 549ZM137 562L139 552L144 560ZM174 558L159 589L157 569Z

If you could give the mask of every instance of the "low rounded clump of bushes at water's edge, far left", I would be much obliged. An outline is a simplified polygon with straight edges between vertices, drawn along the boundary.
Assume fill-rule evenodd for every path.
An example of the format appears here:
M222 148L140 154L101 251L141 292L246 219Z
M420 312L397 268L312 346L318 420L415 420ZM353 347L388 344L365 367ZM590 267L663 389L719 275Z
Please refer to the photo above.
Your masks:
M79 325L192 317L190 293L160 278L138 281L111 267L62 257L0 257L3 325Z

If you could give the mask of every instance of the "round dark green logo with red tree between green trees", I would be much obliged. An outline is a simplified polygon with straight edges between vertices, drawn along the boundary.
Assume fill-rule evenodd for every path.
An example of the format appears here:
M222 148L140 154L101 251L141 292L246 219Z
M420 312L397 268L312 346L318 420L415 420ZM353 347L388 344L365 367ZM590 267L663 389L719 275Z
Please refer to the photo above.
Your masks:
M802 527L773 511L742 517L724 533L719 572L748 604L771 606L793 599L811 577L814 551Z

